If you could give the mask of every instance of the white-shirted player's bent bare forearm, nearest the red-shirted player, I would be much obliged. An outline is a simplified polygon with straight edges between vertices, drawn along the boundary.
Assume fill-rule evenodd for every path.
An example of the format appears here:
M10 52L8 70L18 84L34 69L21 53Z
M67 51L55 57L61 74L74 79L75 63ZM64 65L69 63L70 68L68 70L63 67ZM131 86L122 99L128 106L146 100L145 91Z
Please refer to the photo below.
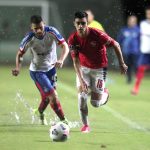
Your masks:
M55 63L55 67L57 67L57 68L61 68L63 66L64 60L66 59L66 57L69 53L68 44L66 42L62 43L60 45L60 47L62 48L60 58Z

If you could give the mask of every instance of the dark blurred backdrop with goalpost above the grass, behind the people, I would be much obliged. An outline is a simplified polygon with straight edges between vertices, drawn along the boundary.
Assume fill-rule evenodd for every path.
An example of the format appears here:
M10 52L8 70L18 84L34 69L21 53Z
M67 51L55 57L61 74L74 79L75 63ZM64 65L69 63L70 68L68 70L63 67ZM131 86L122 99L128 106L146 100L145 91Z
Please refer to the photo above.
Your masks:
M105 31L116 39L128 15L137 15L138 21L144 19L147 4L146 0L0 0L0 64L15 63L20 41L30 30L31 15L42 15L47 25L55 26L67 39L74 30L74 12L91 9ZM114 54L108 52L108 57L110 67L115 67ZM27 53L24 63L29 61L30 54ZM70 61L68 57L66 65L72 65Z

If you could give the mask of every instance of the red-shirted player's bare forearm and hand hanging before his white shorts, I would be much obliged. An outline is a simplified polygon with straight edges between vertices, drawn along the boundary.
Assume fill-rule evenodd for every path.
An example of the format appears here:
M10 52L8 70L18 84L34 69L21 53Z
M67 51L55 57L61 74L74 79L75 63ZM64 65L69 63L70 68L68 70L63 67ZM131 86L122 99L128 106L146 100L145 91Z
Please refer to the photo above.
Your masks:
M87 93L88 92L88 86L82 77L82 72L80 70L80 62L79 62L78 57L73 57L73 65L74 65L75 71L77 73L77 76L78 76L80 84L81 84L81 87L79 90L80 90L80 92Z

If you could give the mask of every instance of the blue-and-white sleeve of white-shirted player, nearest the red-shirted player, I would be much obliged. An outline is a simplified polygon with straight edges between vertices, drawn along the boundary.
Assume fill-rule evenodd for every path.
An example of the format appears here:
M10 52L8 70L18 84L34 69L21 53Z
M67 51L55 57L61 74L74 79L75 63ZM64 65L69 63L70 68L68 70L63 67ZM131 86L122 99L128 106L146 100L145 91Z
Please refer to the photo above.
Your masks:
M63 38L63 36L59 33L59 31L56 28L47 27L47 31L54 36L54 38L57 41L58 45L65 42L65 39Z

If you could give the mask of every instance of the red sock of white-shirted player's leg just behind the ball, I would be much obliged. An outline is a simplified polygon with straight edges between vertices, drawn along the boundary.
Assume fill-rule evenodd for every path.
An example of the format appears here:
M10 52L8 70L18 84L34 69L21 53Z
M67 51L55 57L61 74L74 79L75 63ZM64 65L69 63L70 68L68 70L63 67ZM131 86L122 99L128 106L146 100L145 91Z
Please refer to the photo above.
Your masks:
M56 100L56 103L50 103L52 109L54 110L54 112L57 114L57 116L59 117L60 120L64 120L64 113L61 107L61 104L58 100Z

